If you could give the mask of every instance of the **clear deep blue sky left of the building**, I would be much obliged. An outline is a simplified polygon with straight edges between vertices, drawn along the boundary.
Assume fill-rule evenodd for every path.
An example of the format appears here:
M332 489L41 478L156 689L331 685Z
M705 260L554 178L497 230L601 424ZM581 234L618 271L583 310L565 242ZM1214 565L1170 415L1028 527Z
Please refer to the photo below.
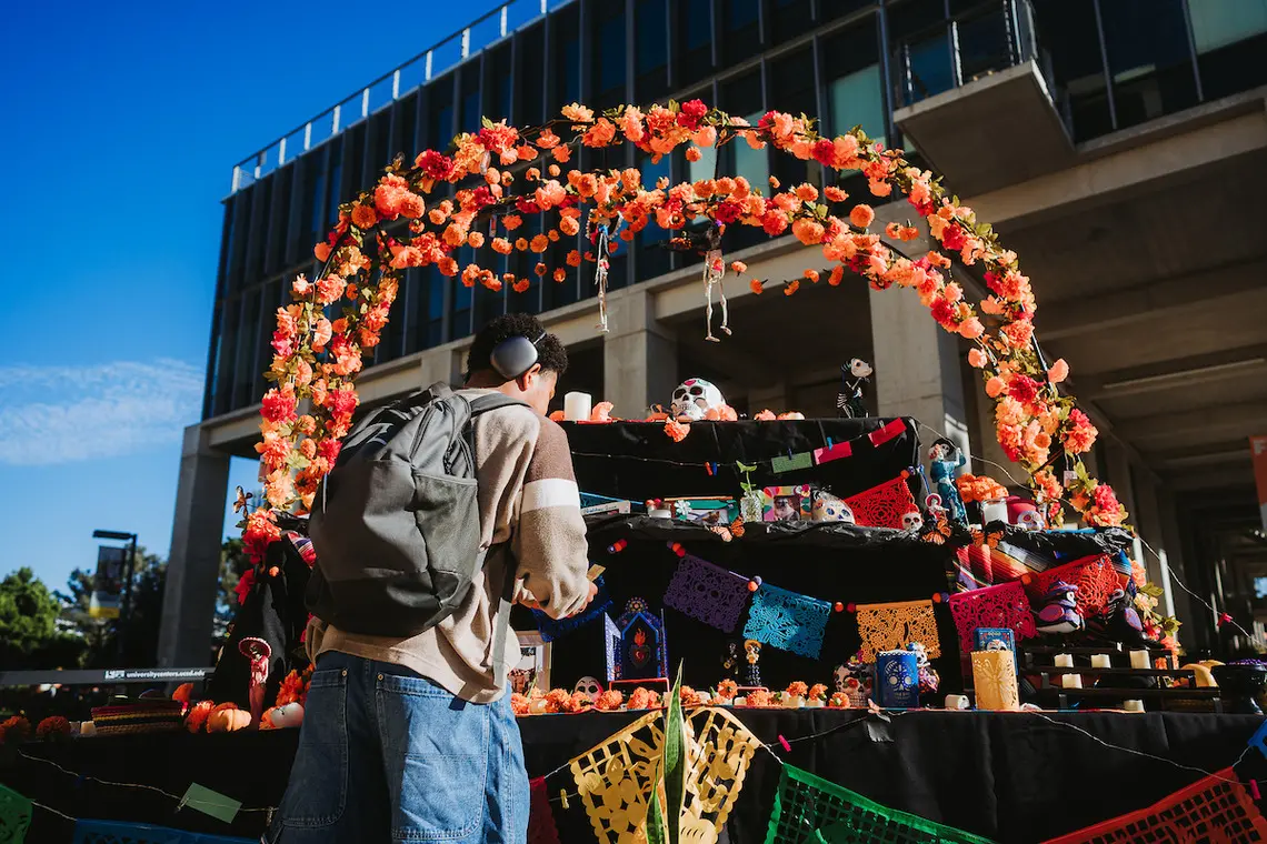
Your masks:
M167 554L233 163L494 5L5 14L0 576L30 566L62 588L95 564L95 528ZM253 480L234 461L231 488Z

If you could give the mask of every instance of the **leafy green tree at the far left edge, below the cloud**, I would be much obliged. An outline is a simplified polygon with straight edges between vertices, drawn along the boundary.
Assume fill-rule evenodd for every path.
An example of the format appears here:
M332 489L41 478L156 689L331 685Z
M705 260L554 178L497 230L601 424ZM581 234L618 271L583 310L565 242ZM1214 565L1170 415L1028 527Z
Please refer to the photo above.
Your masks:
M62 606L29 568L0 581L0 668L76 664L81 645L57 629Z

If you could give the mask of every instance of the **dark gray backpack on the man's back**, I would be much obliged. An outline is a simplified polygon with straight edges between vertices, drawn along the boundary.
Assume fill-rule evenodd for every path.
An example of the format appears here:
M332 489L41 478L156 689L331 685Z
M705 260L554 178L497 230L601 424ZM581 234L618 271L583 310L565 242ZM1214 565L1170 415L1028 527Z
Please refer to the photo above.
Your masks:
M348 431L309 520L313 615L346 633L413 636L457 609L485 557L471 423L511 405L523 402L468 401L436 383Z

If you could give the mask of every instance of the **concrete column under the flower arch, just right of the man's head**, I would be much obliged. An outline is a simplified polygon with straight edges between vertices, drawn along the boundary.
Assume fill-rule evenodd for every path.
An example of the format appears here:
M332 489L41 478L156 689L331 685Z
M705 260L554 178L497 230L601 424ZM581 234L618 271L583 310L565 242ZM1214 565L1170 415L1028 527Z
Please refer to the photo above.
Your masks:
M603 335L604 401L612 414L642 419L653 404L668 405L678 386L678 339L654 316L653 301L640 287L607 299L608 333Z

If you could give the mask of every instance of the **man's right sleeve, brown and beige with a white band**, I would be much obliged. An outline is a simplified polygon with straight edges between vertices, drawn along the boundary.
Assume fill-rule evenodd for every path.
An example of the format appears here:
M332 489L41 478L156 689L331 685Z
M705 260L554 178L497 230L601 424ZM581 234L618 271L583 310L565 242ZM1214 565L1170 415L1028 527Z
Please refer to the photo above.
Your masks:
M542 419L523 478L512 553L523 588L551 617L573 615L592 597L588 552L568 437Z

